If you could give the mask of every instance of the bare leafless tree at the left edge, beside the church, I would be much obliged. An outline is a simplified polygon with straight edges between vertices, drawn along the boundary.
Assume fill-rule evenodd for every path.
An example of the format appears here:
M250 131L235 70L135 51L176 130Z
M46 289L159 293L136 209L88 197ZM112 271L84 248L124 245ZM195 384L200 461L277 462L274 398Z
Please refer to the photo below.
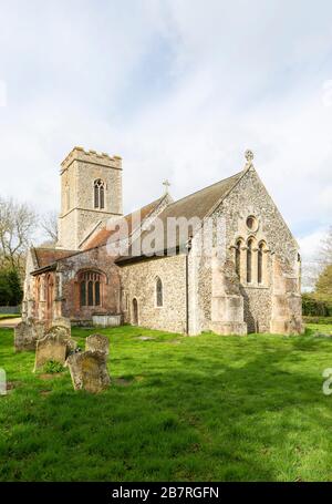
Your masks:
M0 266L23 271L35 227L37 215L28 204L0 197Z

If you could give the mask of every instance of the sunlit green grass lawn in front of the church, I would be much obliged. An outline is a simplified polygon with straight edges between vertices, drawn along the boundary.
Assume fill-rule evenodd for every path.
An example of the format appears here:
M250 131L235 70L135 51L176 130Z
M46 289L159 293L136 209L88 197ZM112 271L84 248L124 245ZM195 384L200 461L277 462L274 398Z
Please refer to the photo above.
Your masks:
M331 481L332 339L181 337L100 330L112 387L74 392L69 371L34 376L0 330L1 481ZM80 346L91 335L74 329ZM152 341L139 335L155 337Z

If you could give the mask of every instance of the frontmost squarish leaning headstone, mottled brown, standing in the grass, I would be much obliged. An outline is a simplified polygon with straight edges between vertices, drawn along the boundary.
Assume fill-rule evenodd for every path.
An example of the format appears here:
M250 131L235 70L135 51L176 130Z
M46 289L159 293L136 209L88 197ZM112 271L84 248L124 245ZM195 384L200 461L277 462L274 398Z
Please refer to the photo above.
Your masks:
M104 352L73 353L68 358L66 366L70 369L75 390L97 393L105 390L111 383Z

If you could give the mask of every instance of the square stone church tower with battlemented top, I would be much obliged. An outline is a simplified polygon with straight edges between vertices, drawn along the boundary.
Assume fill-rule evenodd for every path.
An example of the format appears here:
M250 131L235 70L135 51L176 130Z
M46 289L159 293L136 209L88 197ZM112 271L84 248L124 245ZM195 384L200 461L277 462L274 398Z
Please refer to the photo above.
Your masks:
M74 147L61 163L56 248L79 250L111 217L123 215L122 158Z

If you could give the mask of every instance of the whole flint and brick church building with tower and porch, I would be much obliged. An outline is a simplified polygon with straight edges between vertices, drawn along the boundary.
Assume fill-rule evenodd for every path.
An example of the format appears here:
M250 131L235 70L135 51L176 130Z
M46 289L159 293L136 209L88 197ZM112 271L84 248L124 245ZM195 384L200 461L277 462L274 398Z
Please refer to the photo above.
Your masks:
M301 333L299 246L252 160L247 151L243 169L179 200L166 185L124 216L122 158L74 147L61 164L58 244L28 254L23 319Z

